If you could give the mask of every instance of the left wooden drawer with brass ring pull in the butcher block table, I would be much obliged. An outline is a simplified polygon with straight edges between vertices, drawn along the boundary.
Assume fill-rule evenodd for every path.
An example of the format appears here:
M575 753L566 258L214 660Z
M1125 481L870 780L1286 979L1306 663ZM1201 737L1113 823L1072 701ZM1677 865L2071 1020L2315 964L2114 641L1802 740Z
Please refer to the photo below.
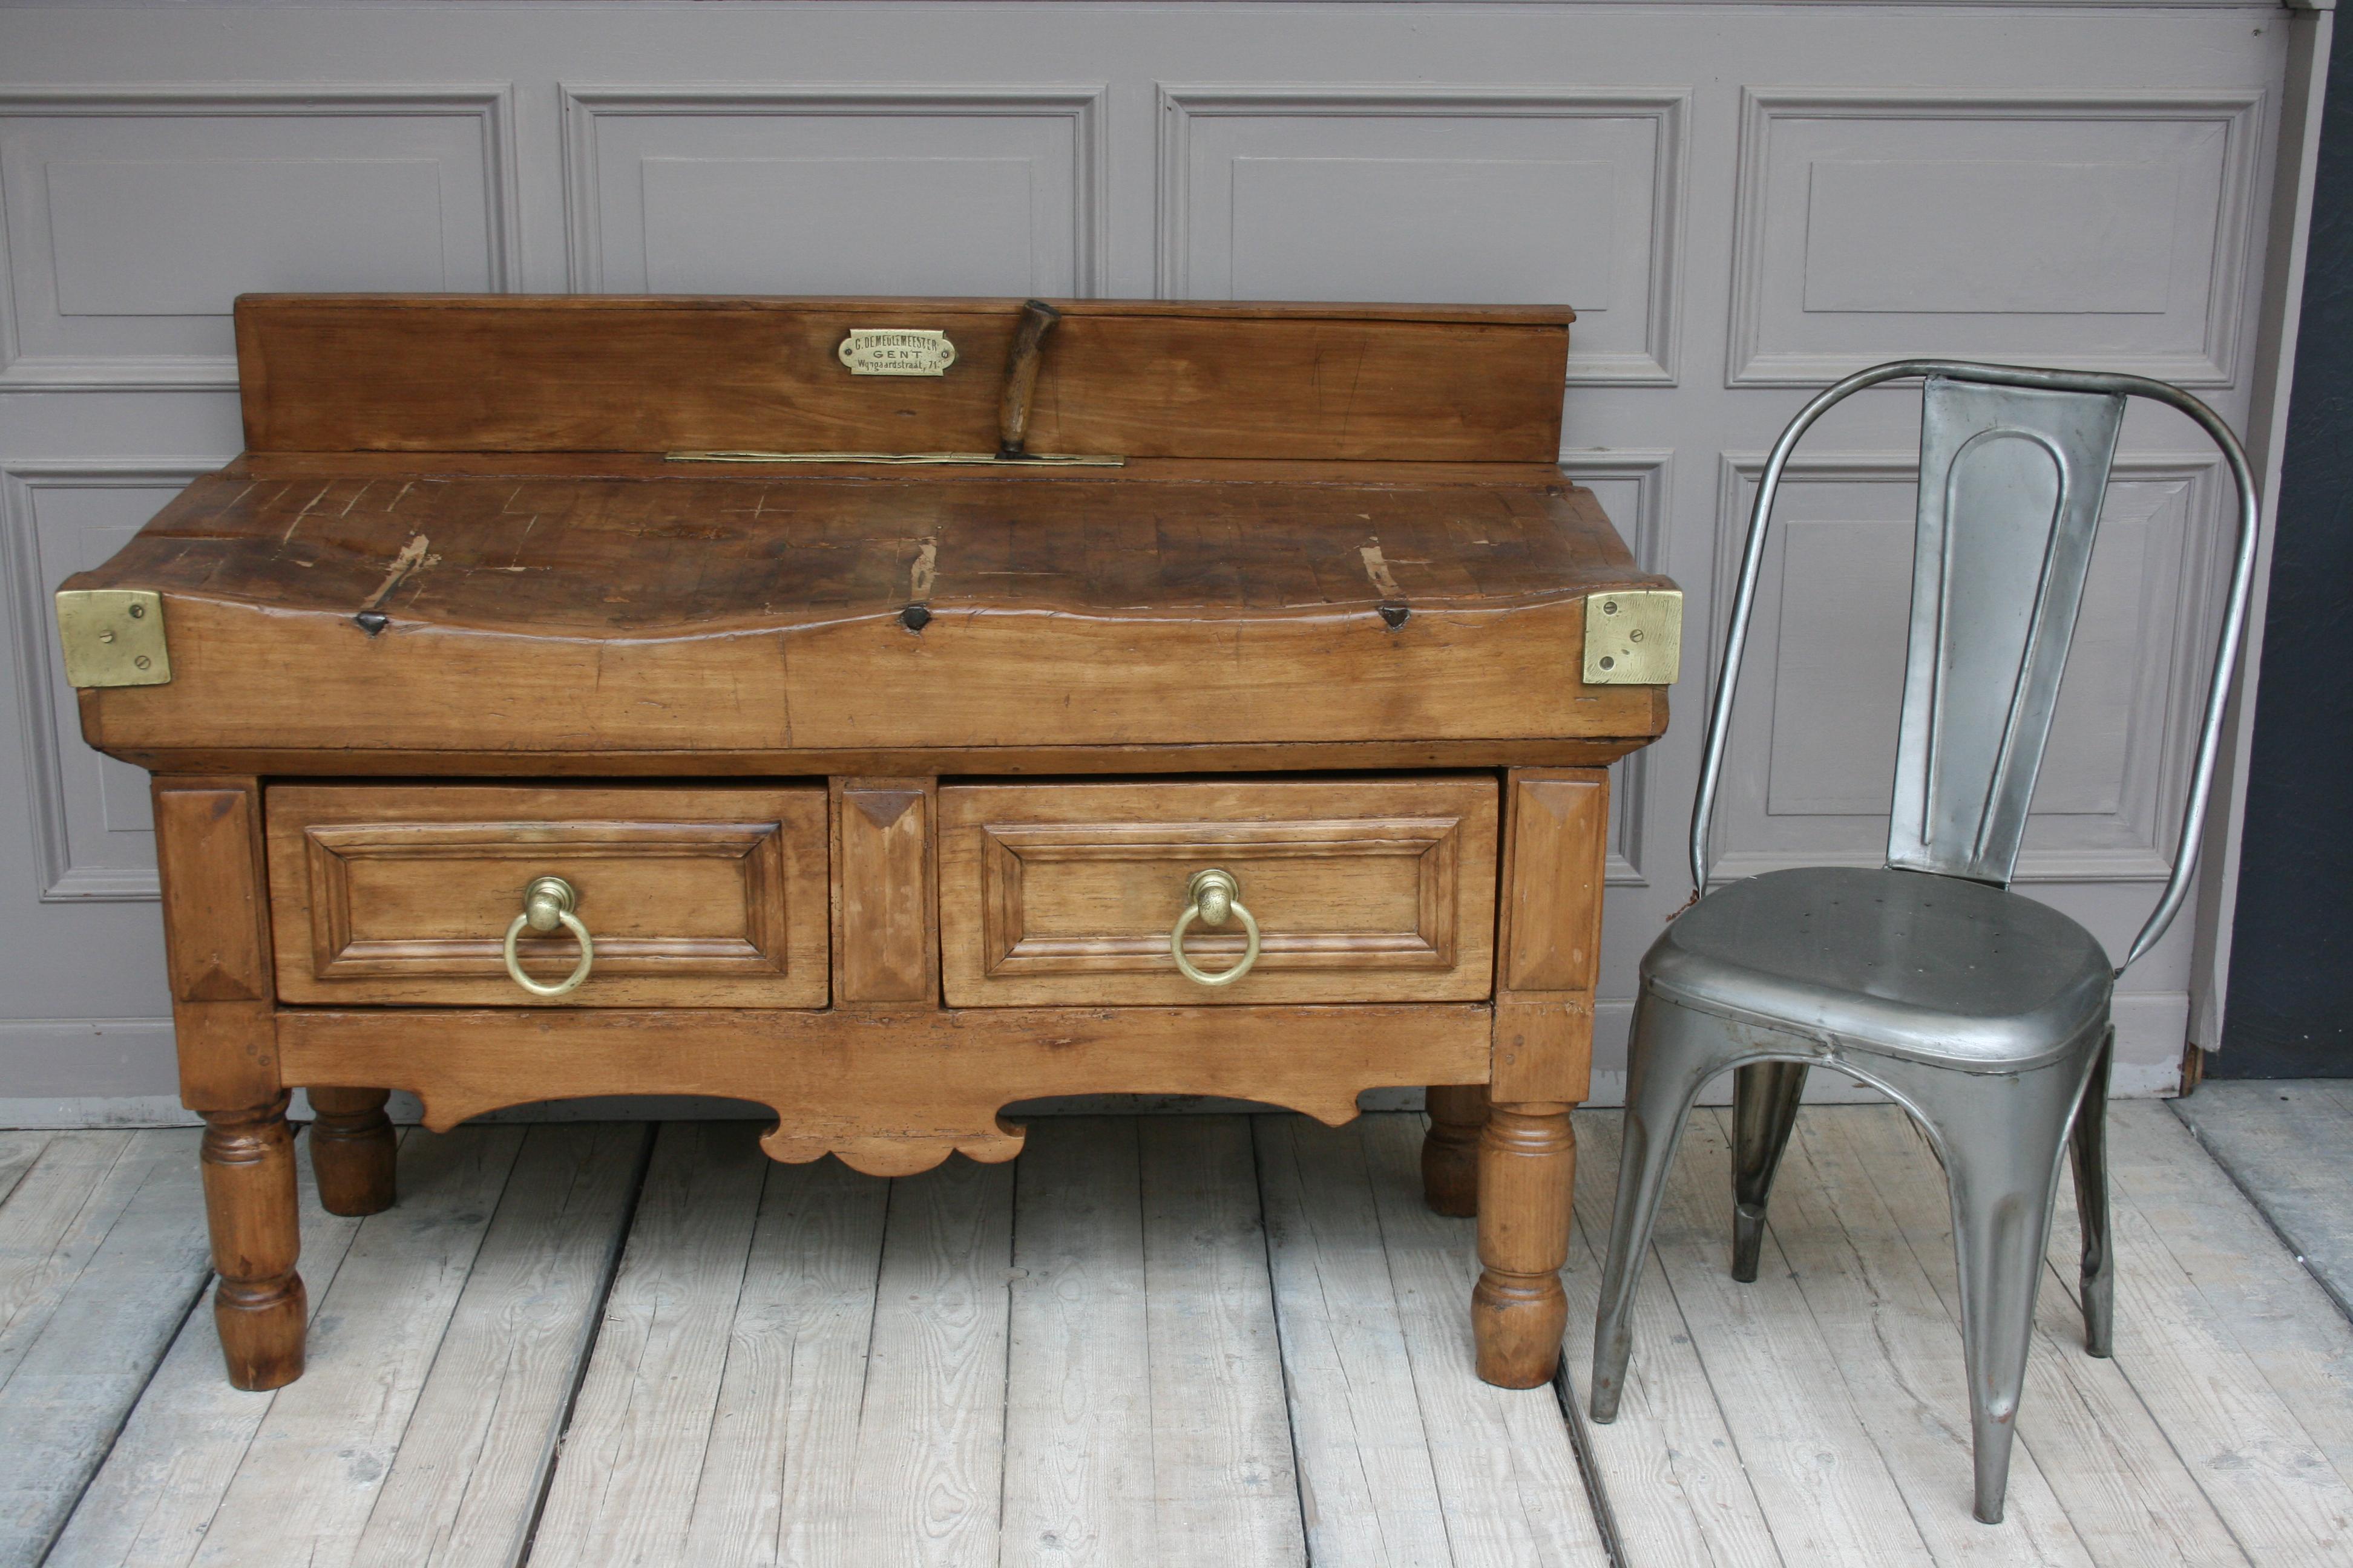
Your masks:
M271 926L285 1001L824 1006L826 792L788 788L278 785ZM506 973L534 877L579 889L588 980ZM518 943L562 980L565 931Z

